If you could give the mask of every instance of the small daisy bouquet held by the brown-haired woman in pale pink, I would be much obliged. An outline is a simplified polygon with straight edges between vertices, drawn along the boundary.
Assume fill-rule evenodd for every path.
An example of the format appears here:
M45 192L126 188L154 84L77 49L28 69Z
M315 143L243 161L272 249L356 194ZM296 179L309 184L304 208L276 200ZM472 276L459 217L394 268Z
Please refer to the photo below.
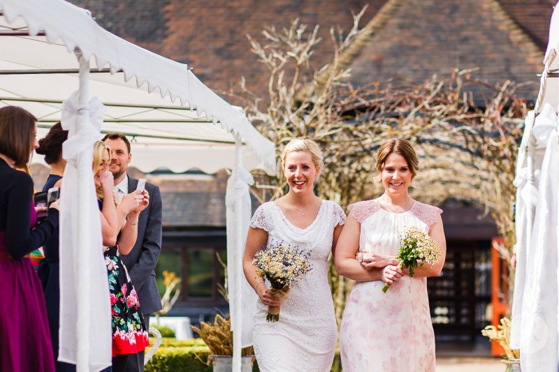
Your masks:
M415 226L408 226L398 231L400 251L396 258L400 260L400 269L409 269L409 276L414 276L414 269L428 263L435 267L441 257L441 248L437 242ZM389 290L390 285L384 284L382 292Z

